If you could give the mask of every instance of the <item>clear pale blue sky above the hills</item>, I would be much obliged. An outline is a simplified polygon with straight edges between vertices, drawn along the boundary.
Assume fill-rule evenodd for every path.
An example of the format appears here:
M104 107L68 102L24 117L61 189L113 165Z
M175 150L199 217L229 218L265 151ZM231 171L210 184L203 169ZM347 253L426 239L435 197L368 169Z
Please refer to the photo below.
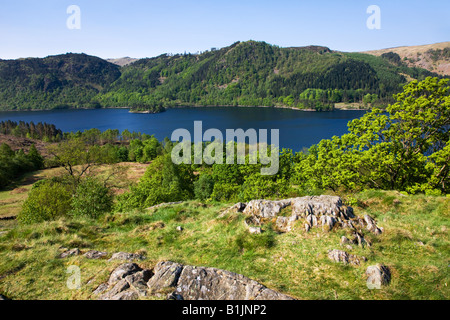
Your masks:
M71 5L79 16L67 12ZM371 5L380 9L379 29L367 26ZM144 58L247 40L339 51L450 41L450 1L0 0L0 59Z

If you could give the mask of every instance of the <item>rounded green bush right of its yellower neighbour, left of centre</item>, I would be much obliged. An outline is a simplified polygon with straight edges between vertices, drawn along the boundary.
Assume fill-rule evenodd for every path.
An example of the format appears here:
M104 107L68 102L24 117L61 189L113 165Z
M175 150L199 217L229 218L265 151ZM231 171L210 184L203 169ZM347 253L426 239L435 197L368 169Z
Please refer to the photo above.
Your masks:
M113 195L98 179L88 177L78 185L72 199L70 215L97 218L111 211Z

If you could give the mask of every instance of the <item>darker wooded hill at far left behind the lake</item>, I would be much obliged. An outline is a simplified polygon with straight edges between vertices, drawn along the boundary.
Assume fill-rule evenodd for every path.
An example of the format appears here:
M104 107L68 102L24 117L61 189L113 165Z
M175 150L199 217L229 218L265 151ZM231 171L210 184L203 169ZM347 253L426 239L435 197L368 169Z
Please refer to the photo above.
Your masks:
M0 60L0 109L95 107L119 67L86 54Z

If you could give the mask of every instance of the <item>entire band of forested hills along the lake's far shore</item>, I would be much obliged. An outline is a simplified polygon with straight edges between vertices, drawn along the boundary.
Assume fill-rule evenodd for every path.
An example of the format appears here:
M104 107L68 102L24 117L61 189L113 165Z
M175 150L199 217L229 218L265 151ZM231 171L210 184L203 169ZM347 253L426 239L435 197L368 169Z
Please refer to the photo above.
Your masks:
M201 54L163 54L119 67L84 54L0 61L2 109L176 105L386 105L407 80L431 72L389 57L236 42Z

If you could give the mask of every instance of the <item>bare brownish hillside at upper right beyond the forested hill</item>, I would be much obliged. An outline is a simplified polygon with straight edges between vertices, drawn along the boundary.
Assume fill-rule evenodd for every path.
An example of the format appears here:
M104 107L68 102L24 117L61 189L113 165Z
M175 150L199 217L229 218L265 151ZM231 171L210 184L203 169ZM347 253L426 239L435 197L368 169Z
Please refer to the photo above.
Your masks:
M381 56L393 52L409 67L427 69L440 75L450 75L450 41L423 46L396 47L363 53Z

